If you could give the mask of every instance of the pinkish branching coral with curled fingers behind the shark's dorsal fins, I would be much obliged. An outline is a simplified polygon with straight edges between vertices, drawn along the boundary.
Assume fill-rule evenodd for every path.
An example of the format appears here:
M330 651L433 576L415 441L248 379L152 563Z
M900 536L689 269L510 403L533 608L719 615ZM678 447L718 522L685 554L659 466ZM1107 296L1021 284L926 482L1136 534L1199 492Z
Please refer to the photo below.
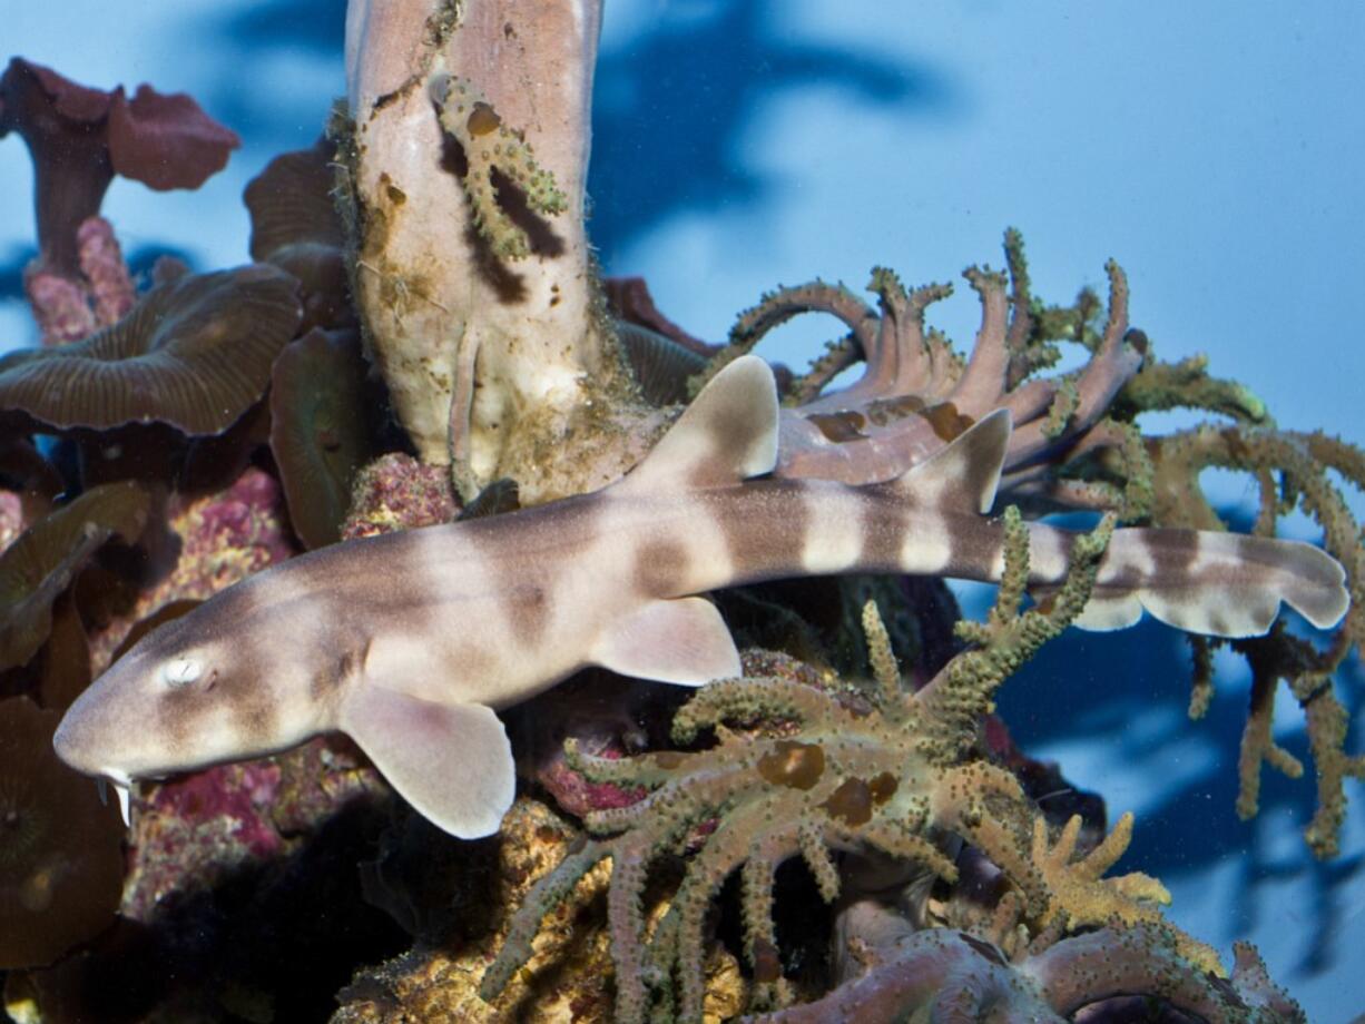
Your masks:
M1097 300L1084 292L1072 310L1047 309L1029 292L1024 243L1017 231L1005 238L1009 273L971 268L965 277L981 299L981 328L971 355L962 359L951 344L924 324L925 309L951 292L931 284L906 291L885 268L872 270L874 311L842 285L824 281L779 288L744 313L730 330L730 345L700 374L706 380L721 365L753 348L773 328L801 313L820 311L841 319L849 335L831 345L811 373L793 386L782 418L778 474L820 477L850 483L889 479L921 461L973 422L996 408L1009 408L1014 434L1002 487L1007 498L1036 494L1037 464L1057 463L1089 446L1118 446L1141 457L1121 427L1104 419L1118 390L1138 371L1147 339L1127 328L1127 280L1114 262L1108 317L1099 335L1087 330ZM1084 367L1040 377L1061 358L1059 339L1091 352ZM859 356L863 377L849 388L822 395L823 388ZM1093 508L1085 489L1048 481L1051 505ZM1136 502L1138 496L1132 496ZM1110 505L1106 504L1106 508ZM1138 512L1122 509L1133 517Z

